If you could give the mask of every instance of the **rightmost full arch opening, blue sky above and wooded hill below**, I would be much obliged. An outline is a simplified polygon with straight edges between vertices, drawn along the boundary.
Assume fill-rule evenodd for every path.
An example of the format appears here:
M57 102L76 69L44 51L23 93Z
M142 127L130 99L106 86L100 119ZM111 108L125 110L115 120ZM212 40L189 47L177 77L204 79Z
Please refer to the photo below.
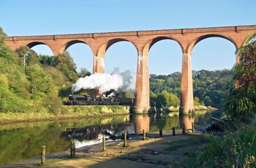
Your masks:
M230 69L236 64L235 52L235 45L225 38L208 37L197 42L192 50L195 106L222 107L225 91L233 87L227 81L233 76Z

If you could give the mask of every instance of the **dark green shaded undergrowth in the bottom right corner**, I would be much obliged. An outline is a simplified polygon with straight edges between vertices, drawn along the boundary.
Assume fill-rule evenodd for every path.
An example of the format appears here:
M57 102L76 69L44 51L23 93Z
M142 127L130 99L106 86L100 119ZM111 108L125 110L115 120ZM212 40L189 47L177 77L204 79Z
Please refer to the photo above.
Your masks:
M209 135L209 145L190 153L182 167L256 167L256 121L224 137ZM177 167L180 167L177 165Z

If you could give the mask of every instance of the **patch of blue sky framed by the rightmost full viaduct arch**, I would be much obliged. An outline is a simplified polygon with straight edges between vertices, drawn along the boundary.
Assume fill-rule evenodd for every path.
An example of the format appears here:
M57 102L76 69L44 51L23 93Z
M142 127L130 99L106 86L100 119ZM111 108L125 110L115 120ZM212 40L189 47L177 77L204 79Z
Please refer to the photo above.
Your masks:
M236 64L236 47L222 37L206 37L192 49L192 69L209 71L232 69Z

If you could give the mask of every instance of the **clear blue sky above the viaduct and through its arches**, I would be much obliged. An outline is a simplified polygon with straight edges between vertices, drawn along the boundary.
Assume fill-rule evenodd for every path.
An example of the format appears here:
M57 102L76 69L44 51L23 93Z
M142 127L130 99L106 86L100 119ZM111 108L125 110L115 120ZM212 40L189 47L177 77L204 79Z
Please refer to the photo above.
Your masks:
M87 34L176 28L256 25L255 0L0 0L0 27L9 37ZM45 45L37 53L53 55ZM67 50L75 64L92 72L89 46ZM204 39L192 50L192 69L231 69L236 48L221 38ZM181 72L181 49L172 40L157 42L148 54L151 74ZM118 42L105 55L105 72L136 72L137 53L129 42Z

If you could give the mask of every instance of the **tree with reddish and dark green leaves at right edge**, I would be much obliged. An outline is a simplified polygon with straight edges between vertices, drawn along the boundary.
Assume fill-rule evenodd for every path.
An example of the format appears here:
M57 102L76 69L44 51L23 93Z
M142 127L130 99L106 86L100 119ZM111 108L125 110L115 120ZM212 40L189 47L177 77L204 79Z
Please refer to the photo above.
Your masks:
M227 117L247 121L256 112L256 41L238 48L239 62L233 67L237 87L232 89L223 106Z

